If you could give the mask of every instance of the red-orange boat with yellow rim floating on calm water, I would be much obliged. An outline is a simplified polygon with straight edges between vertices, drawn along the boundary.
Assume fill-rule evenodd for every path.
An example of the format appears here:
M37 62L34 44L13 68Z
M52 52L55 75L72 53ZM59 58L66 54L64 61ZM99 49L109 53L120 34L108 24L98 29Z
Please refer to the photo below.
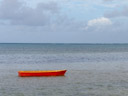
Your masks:
M67 70L18 71L20 77L28 76L64 76Z

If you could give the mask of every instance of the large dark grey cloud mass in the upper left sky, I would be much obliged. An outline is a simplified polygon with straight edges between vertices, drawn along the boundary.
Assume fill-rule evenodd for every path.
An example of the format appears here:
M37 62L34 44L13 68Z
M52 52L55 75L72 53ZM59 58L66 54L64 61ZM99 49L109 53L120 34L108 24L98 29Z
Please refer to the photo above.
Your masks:
M0 4L0 20L11 25L44 26L58 13L55 2L38 3L36 8L18 0L3 0Z

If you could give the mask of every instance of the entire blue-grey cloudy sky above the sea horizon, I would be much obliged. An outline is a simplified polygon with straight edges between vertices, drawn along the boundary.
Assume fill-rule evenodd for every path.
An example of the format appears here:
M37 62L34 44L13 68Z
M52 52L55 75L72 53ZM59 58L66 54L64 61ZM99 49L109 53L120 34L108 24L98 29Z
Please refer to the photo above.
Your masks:
M0 43L128 43L128 0L0 0Z

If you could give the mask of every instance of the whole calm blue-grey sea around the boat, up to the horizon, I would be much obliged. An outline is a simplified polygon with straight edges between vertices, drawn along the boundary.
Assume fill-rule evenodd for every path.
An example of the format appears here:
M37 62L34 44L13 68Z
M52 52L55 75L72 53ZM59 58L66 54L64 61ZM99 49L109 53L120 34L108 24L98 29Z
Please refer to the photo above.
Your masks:
M65 76L18 76L63 69ZM128 96L128 44L1 43L0 96Z

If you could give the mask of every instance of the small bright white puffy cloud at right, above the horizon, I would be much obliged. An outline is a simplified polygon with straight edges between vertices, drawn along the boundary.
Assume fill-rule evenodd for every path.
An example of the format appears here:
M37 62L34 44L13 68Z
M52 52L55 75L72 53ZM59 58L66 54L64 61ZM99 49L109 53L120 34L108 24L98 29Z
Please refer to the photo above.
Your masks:
M111 24L112 24L112 21L110 19L105 18L105 17L101 17L101 18L97 18L97 19L93 19L93 20L88 21L85 29L86 30L87 29L94 29L94 28L101 29L101 28L106 27L106 26L111 25Z

